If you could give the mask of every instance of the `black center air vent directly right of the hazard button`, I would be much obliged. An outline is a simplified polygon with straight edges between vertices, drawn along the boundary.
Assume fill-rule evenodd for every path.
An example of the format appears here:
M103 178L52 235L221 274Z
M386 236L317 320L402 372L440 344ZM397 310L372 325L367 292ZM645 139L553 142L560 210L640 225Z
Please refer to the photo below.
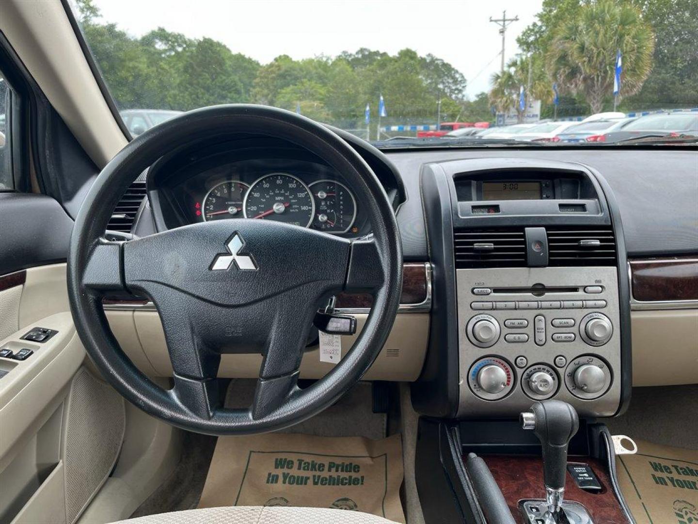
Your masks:
M549 265L616 265L611 226L549 227Z

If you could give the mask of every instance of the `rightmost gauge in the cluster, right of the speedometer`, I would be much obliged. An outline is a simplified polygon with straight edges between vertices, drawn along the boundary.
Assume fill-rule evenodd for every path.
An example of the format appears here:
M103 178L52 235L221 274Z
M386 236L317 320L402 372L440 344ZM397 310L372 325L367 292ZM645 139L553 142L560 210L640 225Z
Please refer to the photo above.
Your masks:
M315 199L314 229L327 233L346 233L356 219L356 200L344 184L318 180L310 184Z

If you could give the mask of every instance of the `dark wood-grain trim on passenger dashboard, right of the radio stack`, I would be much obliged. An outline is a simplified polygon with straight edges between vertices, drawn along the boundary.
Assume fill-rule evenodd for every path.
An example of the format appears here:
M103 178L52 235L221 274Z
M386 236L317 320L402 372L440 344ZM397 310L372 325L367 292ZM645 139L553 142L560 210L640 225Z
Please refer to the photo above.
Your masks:
M696 301L698 256L631 259L630 283L634 303Z

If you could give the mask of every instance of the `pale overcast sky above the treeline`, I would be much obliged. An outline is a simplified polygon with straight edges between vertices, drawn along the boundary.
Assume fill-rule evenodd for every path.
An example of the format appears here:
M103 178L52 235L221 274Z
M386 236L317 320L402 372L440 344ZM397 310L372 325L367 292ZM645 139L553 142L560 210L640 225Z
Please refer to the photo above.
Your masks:
M489 89L500 69L501 36L489 17L518 16L507 27L505 58L535 20L542 0L96 0L103 20L133 36L158 26L207 36L266 64L369 48L412 48L449 62L468 80L467 94Z

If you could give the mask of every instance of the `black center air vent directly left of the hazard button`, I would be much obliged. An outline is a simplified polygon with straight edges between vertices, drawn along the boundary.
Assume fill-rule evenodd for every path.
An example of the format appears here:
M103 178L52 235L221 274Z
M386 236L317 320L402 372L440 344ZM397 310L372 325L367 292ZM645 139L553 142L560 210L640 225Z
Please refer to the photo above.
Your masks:
M526 266L523 228L457 229L453 242L457 269Z

